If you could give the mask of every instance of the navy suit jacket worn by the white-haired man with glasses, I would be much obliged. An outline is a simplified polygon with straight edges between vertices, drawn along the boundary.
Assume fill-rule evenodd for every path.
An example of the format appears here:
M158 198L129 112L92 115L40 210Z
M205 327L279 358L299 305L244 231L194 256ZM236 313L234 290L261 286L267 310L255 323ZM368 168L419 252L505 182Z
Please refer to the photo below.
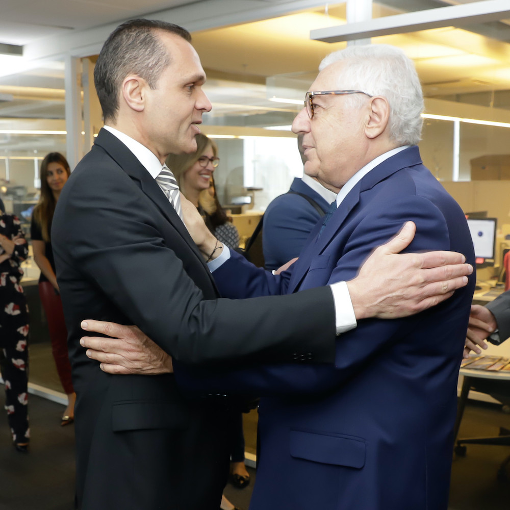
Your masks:
M410 147L363 177L318 239L316 226L291 271L275 277L233 254L215 280L222 295L236 298L348 280L405 220L417 225L409 251L454 250L474 262L463 212ZM177 372L178 382L196 389L265 395L250 508L446 510L473 288L471 277L450 299L413 317L360 321L338 337L334 365L266 366L201 379Z

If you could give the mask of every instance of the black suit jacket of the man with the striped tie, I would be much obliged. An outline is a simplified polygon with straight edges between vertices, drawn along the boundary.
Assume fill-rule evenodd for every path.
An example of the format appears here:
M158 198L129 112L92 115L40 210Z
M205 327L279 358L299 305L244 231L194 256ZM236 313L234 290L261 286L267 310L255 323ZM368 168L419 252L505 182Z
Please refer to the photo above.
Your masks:
M80 322L137 324L184 363L330 362L330 290L218 299L173 207L106 130L61 193L52 241L78 396L78 506L217 507L228 462L220 406L187 400L173 375L101 372L79 345Z

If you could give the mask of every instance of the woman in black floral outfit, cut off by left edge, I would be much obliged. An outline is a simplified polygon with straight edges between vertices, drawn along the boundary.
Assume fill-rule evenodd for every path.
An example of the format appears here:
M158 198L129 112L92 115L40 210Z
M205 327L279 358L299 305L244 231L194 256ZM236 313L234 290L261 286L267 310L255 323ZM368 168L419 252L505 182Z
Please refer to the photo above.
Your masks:
M16 216L0 203L0 371L5 385L5 409L16 450L28 452L28 334L29 311L20 265L28 244Z

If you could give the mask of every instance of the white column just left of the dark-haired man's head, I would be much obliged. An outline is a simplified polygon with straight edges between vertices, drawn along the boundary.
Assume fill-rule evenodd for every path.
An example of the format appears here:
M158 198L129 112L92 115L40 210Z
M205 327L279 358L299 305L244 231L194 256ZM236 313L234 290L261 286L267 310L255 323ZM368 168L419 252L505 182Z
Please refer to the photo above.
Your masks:
M82 100L79 82L79 58L65 57L65 125L67 131L67 161L71 170L83 157Z

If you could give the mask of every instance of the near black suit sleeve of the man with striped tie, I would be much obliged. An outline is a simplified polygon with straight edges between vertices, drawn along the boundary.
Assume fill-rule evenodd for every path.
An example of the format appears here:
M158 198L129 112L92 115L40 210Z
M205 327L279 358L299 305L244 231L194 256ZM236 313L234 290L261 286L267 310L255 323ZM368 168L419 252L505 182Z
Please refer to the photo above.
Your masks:
M203 299L185 271L186 257L196 257L186 239L162 221L124 172L111 170L98 168L96 180L77 177L70 183L54 235L62 264L69 260L77 266L129 323L188 363L244 358L292 363L302 353L333 361L330 289L244 301ZM79 286L73 292L80 292Z

